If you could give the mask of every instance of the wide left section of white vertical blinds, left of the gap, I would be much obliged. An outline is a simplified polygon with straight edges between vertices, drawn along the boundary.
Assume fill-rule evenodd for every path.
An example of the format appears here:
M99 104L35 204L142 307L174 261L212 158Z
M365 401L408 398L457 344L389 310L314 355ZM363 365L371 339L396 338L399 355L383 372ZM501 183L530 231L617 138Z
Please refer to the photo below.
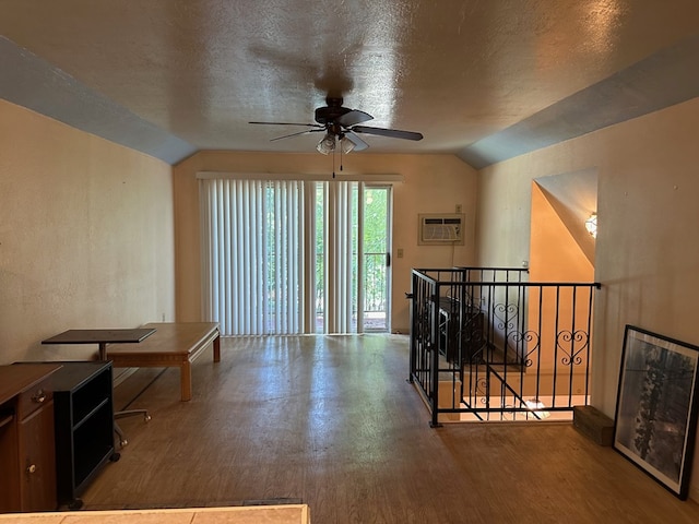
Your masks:
M303 330L304 186L200 180L202 312L225 335Z

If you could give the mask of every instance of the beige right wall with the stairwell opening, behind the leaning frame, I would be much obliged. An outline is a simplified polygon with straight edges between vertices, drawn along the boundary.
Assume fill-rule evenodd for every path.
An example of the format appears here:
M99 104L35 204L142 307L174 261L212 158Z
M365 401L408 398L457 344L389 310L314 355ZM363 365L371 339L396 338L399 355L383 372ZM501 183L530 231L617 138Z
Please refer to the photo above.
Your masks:
M596 167L592 403L613 416L625 324L699 345L699 99L478 174L482 265L529 260L532 179ZM692 497L699 498L699 454Z

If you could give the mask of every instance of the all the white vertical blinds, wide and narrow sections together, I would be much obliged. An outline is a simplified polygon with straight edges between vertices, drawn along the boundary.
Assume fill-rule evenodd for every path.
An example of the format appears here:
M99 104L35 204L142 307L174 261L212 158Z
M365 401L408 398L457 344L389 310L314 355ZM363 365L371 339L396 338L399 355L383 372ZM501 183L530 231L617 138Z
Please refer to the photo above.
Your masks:
M200 199L203 320L223 335L315 333L320 249L323 332L356 330L356 182L200 179Z

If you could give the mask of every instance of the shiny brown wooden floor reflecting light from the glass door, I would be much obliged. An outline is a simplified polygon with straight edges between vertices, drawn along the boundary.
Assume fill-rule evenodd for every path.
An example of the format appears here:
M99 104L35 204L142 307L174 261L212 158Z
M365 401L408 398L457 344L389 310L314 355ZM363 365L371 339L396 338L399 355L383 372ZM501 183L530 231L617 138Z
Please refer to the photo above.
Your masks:
M699 522L569 422L429 428L400 335L224 338L179 401L168 369L121 419L129 445L85 509L303 502L329 523ZM152 370L143 370L152 373ZM117 388L117 407L146 376ZM119 404L121 403L121 404Z

